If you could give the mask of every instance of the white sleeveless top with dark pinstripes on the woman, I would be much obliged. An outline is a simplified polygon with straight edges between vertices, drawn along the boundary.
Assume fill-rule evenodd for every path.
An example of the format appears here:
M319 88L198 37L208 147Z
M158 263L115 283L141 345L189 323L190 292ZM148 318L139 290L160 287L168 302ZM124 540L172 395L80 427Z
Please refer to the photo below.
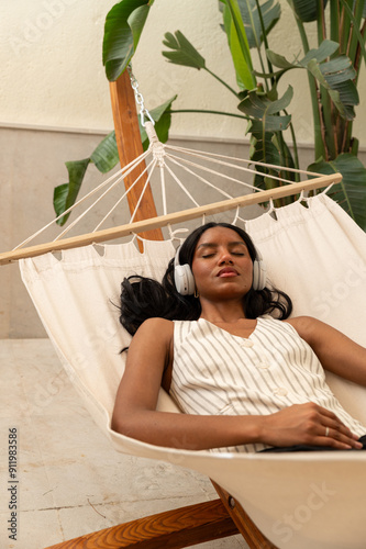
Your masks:
M335 399L318 357L290 324L258 317L248 338L203 318L174 324L170 395L184 413L265 415L311 401L334 412L356 435L366 434ZM249 444L214 451L264 448Z

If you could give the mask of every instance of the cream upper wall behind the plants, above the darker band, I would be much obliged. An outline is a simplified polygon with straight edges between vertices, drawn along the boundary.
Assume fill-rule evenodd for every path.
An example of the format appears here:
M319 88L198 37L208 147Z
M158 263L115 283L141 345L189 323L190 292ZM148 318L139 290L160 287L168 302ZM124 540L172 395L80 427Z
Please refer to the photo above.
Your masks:
M269 46L291 59L300 53L300 42L287 0L279 2L282 16L269 36ZM115 0L1 2L0 122L89 131L112 127L101 43L106 14L114 3ZM235 112L236 98L207 72L177 67L162 56L164 33L179 29L206 57L208 67L235 86L220 23L217 0L155 0L133 60L148 108L178 93L177 109ZM307 27L310 36L314 36L314 26L308 24ZM257 63L256 67L259 68ZM290 112L299 142L312 143L306 75L298 70L286 78L281 89L287 87L289 79L295 87ZM365 97L364 75L359 87ZM365 112L365 103L358 111ZM171 134L242 139L244 130L243 123L235 119L177 115ZM356 123L356 134L366 145L362 116Z

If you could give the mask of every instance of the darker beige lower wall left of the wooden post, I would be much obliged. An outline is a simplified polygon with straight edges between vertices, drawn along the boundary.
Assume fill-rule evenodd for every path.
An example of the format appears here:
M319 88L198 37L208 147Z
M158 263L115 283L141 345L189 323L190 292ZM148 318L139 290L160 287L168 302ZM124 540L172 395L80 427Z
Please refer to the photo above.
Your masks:
M67 182L65 160L89 156L101 135L0 128L0 250L15 247L55 217L54 187ZM85 190L102 177L91 169ZM80 227L81 228L81 227ZM82 227L86 228L86 227ZM49 242L53 227L36 242ZM16 264L0 267L0 337L44 336Z

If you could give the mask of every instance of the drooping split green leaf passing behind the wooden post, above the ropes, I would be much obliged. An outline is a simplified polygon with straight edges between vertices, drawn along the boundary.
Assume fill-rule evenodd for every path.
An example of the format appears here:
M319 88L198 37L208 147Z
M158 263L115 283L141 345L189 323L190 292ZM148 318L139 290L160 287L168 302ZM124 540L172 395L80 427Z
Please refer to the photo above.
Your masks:
M162 143L165 143L168 139L169 127L171 123L171 114L169 111L171 108L171 103L176 98L177 96L174 96L164 104L156 107L155 109L149 111L152 119L155 121L156 134ZM141 125L140 133L142 137L143 148L144 150L146 150L146 148L148 147L148 138L145 128L143 128ZM96 168L101 173L107 173L108 171L113 169L118 163L119 153L117 148L114 131L108 134L107 137L101 141L101 143L92 152L89 158L65 163L68 171L68 182L59 184L54 189L54 210L56 216L58 217L75 204L89 164L95 164ZM57 221L58 225L65 225L69 215L70 212L66 215L63 215Z

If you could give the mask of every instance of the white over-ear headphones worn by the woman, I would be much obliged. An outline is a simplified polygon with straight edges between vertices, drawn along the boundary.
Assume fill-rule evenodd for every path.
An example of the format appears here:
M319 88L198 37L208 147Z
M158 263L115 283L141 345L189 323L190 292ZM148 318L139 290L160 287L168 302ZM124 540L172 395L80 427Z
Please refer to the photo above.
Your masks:
M188 264L179 264L179 250L174 259L174 281L180 295L193 295L196 283L191 268ZM266 287L266 266L260 253L255 248L256 258L253 262L253 290L263 290Z

